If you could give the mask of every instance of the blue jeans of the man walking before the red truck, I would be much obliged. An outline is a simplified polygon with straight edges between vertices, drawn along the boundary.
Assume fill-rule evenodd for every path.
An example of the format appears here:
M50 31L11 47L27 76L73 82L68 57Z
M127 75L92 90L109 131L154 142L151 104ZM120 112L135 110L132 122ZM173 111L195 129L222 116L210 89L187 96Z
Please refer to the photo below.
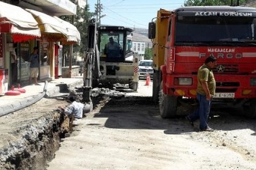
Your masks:
M209 117L209 113L211 110L211 103L212 100L206 100L206 96L197 93L197 99L199 101L199 107L197 110L194 111L194 113L190 114L189 118L192 122L200 119L200 129L205 129L208 127L207 119Z

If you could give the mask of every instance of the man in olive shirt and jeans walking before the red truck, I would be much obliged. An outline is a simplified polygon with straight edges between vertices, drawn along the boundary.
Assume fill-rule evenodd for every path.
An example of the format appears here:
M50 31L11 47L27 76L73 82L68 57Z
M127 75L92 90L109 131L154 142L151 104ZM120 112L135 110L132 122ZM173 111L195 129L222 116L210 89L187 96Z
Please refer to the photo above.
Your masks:
M190 125L194 126L194 121L200 119L201 131L214 131L207 124L207 119L211 110L212 96L215 94L216 82L212 68L216 67L217 59L213 56L207 57L204 64L197 72L197 100L199 107L194 113L186 117Z

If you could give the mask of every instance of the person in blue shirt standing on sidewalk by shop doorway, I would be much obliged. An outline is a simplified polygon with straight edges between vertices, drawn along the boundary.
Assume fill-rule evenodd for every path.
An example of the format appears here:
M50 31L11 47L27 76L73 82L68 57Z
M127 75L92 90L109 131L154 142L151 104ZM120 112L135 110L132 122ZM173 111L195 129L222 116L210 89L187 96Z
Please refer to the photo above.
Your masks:
M33 53L30 54L30 77L29 84L31 84L31 79L35 85L40 85L38 83L38 73L39 73L39 56L38 56L38 47L33 48Z

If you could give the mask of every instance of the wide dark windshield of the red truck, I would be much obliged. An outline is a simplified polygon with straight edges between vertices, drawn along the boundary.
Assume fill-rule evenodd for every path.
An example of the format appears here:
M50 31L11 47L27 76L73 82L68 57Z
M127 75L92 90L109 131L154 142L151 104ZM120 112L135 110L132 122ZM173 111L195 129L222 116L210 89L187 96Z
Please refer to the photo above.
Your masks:
M256 19L231 16L178 16L175 43L243 44L256 42Z

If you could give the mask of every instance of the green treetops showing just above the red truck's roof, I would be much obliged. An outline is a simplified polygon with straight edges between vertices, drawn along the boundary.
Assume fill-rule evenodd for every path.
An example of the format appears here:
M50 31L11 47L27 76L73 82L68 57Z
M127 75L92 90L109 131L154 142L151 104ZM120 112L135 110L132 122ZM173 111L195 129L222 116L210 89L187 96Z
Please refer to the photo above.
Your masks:
M184 6L212 6L212 5L229 5L236 6L246 4L246 0L187 0L184 2Z

